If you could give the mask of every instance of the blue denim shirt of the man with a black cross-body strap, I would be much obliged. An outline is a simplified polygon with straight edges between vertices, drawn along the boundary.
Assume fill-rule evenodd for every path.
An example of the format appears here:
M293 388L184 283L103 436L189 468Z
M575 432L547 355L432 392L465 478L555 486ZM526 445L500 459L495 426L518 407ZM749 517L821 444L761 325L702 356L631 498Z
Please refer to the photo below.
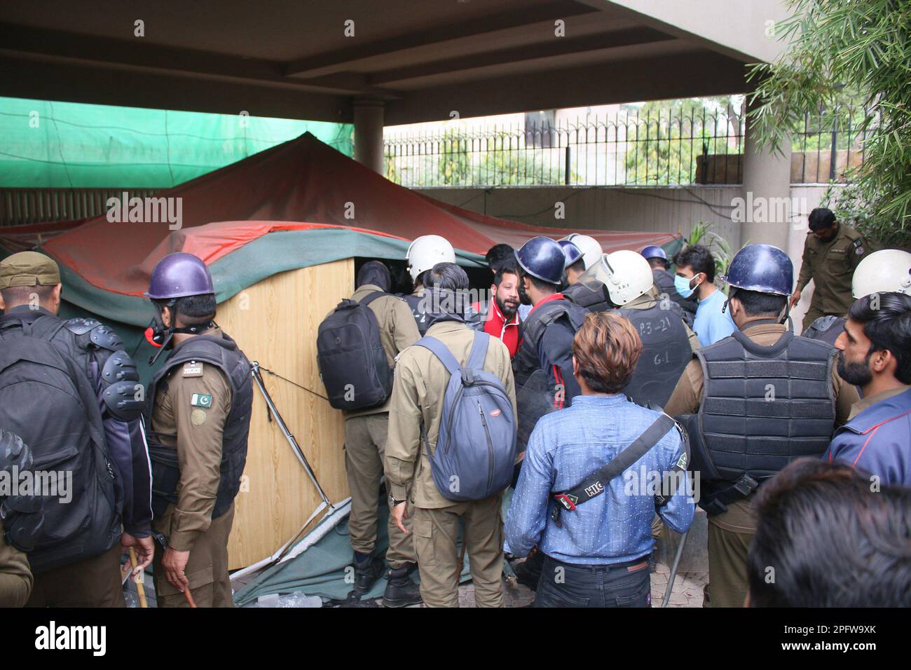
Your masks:
M550 519L551 491L568 490L607 465L660 416L623 395L578 396L571 407L537 422L506 523L508 551L525 556L538 550L558 561L621 563L647 556L654 545L655 514L650 473L670 472L682 453L671 429L645 456L614 478L599 496L563 511L562 527ZM654 479L652 479L654 481ZM661 491L665 493L665 491ZM659 514L671 529L690 528L695 503L686 488L676 490Z

